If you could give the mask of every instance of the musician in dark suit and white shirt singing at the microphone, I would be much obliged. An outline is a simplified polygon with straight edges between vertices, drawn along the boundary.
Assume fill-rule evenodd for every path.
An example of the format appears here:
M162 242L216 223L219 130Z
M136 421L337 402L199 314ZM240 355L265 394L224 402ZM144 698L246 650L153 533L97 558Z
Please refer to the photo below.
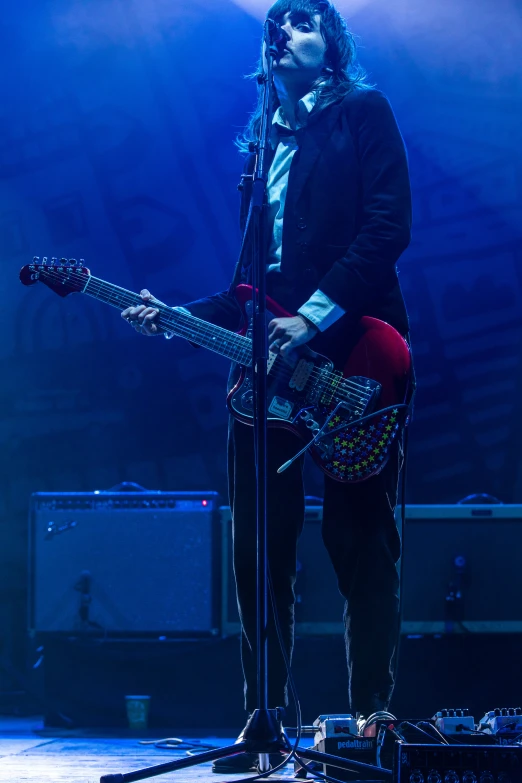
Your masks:
M335 360L346 355L354 326L363 315L387 321L402 335L408 333L395 269L410 241L406 152L390 104L367 85L356 64L353 38L333 5L278 0L268 16L280 23L284 40L273 61L267 289L295 313L270 323L269 346L288 356L311 343ZM258 105L241 139L244 151L257 139L259 117ZM247 154L247 173L253 169L253 157ZM249 196L247 184L242 193L242 228ZM247 251L240 276L246 282L250 281L248 264ZM122 315L141 333L158 334L154 299L148 291L142 297L144 306ZM198 318L239 329L240 311L228 291L185 307ZM269 430L269 565L289 654L296 545L304 519L303 462L295 462L282 474L277 468L300 447L292 433ZM399 461L397 448L378 476L358 484L325 478L322 535L346 599L349 690L339 711L349 709L366 717L388 708L394 686L400 554L394 508ZM236 421L230 423L228 468L245 705L250 712L256 707L254 449L252 429ZM275 707L286 704L287 676L273 622L268 656L269 706ZM216 771L241 771L227 766L231 760L216 762Z

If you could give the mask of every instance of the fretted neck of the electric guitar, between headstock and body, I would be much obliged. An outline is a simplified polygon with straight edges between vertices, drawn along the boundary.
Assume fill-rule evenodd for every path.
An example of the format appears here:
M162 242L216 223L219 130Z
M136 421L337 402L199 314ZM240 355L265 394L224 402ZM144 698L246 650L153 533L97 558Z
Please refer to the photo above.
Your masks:
M143 304L143 299L138 294L92 276L89 277L83 293L119 310ZM248 337L229 332L228 329L202 321L167 305L155 303L154 309L159 312L156 323L164 331L184 337L191 343L208 348L238 364L249 366L252 363L252 342Z

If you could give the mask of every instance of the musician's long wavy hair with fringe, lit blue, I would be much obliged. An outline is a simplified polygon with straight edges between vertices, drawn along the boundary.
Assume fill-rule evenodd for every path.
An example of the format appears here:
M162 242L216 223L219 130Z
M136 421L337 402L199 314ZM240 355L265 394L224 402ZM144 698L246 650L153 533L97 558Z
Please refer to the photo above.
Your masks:
M285 14L307 14L313 17L321 16L321 34L326 44L325 69L312 90L317 89L317 109L324 109L332 103L337 103L349 92L355 89L368 89L372 85L367 82L364 68L357 62L355 39L348 30L345 20L339 11L328 0L277 0L267 13L267 19L281 22ZM263 50L257 69L247 78L258 80L263 75ZM275 112L280 106L277 92L272 93L272 109ZM259 137L261 111L263 107L263 90L258 88L257 105L243 132L237 137L236 144L241 152L247 153L252 142Z

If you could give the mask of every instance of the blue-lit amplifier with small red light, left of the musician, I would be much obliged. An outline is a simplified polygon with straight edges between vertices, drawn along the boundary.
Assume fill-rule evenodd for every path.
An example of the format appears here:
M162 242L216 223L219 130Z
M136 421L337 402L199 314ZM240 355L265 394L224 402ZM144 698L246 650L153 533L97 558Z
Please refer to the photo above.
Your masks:
M36 492L30 632L218 634L215 492Z

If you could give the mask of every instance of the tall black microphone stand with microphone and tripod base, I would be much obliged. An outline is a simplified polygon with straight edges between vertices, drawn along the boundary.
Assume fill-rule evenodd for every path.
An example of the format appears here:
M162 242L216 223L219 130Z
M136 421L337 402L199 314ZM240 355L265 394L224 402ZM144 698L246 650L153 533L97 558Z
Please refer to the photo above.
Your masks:
M256 146L256 163L252 174L251 228L252 231L252 367L254 394L254 449L256 464L256 533L257 533L257 708L251 714L241 732L240 740L234 745L217 750L198 753L196 756L178 759L166 764L129 772L126 774L103 775L100 783L134 783L145 778L164 775L179 769L204 764L208 761L242 753L257 753L261 773L270 774L270 753L290 753L292 748L281 727L280 708L268 707L268 557L267 557L267 503L266 503L266 457L267 457L267 363L268 332L266 309L266 207L268 181L268 153L270 146L270 124L272 120L272 67L271 48L277 41L279 27L271 20L265 21L264 40L266 47L266 70L259 77L264 86L263 111L259 141ZM392 772L371 764L351 759L318 753L309 748L297 748L296 758L319 763L329 763L343 770L357 771L363 777L377 777L391 780ZM281 762L283 762L281 756ZM302 764L303 766L303 764ZM304 765L306 766L306 765ZM376 774L377 773L377 774ZM330 780L335 780L330 778ZM341 781L336 781L341 783Z

